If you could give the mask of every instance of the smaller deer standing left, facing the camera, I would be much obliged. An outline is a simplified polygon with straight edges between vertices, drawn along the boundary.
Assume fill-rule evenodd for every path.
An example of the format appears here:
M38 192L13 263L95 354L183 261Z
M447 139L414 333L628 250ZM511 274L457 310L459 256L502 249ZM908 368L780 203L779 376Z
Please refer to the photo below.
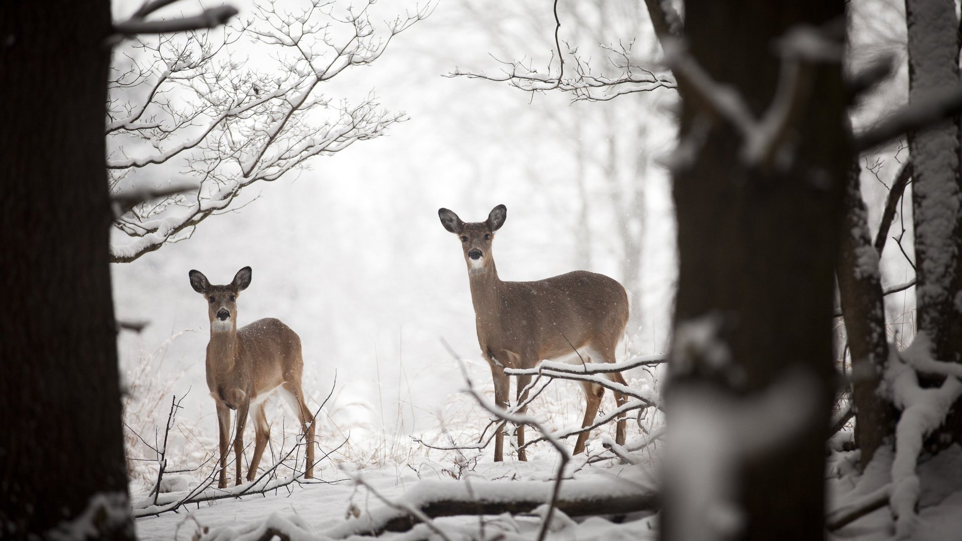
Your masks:
M190 270L190 286L207 300L207 315L211 321L211 341L207 344L207 387L217 406L217 425L220 432L220 477L217 486L227 486L227 440L230 432L231 411L237 410L234 429L234 460L236 484L241 484L241 452L243 429L247 425L247 411L254 408L255 444L247 480L254 480L261 462L270 425L267 425L266 399L274 391L280 393L300 420L301 431L307 438L306 477L314 477L314 417L304 401L301 375L300 337L291 327L266 318L238 329L237 299L250 285L250 267L238 270L234 281L214 286L198 270Z

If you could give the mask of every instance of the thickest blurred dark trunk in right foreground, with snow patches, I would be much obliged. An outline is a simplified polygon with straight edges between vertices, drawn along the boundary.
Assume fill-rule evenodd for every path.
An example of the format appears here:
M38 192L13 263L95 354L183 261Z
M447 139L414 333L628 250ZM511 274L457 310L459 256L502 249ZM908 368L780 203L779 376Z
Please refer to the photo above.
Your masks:
M775 40L797 25L842 20L844 3L828 0L691 0L684 34L696 61L759 117L778 81ZM804 425L731 465L735 514L693 517L716 533L726 528L726 539L824 536L824 441L835 396L830 322L851 149L841 65L813 65L806 77L811 91L791 128L787 167L748 167L739 157L743 137L716 119L694 162L674 171L679 275L666 390L670 430L675 408L683 406L675 397L707 389L753 399L791 374L816 382ZM694 89L679 87L684 141L705 113ZM680 350L679 333L705 317L722 323L713 347L693 358L691 350ZM727 367L706 358L720 350L730 358ZM689 363L676 363L685 355ZM687 503L672 494L678 487L671 477L666 490L665 537L679 539L679 511Z

